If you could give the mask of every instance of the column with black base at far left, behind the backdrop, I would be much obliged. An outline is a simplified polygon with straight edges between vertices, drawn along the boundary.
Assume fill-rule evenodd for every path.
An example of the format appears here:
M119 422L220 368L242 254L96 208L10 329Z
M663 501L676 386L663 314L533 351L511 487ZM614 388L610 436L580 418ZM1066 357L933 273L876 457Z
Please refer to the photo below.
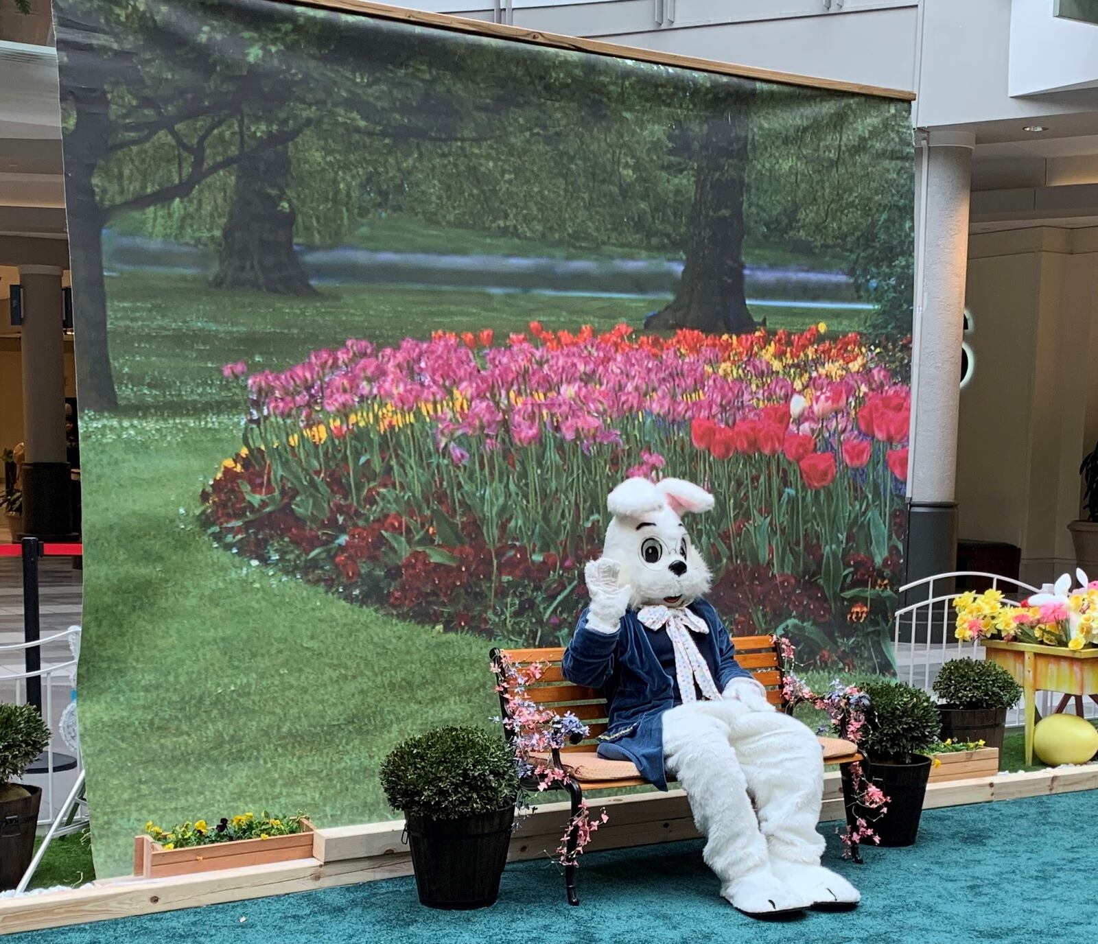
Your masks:
M23 292L23 532L57 539L72 532L65 443L61 270L20 266Z

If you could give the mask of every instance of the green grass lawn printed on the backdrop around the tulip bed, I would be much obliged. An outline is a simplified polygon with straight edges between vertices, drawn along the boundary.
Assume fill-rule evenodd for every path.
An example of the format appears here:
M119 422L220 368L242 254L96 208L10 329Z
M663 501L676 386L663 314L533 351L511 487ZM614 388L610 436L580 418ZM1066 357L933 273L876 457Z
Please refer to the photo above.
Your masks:
M363 286L285 299L144 273L108 292L121 408L81 426L80 718L98 873L130 870L149 819L395 816L377 779L385 753L495 715L489 641L351 606L211 543L199 493L238 448L243 415L243 384L221 364L280 369L347 337L505 334L531 319L639 326L651 302Z

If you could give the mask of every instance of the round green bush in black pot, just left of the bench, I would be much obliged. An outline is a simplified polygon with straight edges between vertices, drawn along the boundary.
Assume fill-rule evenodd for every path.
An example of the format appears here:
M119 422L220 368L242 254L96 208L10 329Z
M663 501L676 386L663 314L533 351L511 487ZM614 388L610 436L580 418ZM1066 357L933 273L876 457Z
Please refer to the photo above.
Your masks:
M399 744L381 785L406 820L419 901L430 908L492 904L515 819L515 755L498 733L437 728Z

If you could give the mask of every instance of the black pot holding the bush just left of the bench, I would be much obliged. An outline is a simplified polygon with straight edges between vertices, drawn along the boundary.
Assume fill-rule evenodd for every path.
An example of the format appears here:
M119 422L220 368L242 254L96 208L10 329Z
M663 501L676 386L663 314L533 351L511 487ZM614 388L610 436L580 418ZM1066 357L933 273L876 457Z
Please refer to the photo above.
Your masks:
M493 904L507 862L515 808L455 820L406 813L419 901L466 910Z

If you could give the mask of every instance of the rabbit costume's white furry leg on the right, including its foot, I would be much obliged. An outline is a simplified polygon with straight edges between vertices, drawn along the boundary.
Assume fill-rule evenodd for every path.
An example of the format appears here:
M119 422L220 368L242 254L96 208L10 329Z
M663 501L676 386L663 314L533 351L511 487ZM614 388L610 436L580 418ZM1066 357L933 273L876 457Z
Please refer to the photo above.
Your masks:
M751 713L735 726L732 743L759 808L773 874L814 904L856 904L858 889L819 864L824 755L816 735L787 715Z

